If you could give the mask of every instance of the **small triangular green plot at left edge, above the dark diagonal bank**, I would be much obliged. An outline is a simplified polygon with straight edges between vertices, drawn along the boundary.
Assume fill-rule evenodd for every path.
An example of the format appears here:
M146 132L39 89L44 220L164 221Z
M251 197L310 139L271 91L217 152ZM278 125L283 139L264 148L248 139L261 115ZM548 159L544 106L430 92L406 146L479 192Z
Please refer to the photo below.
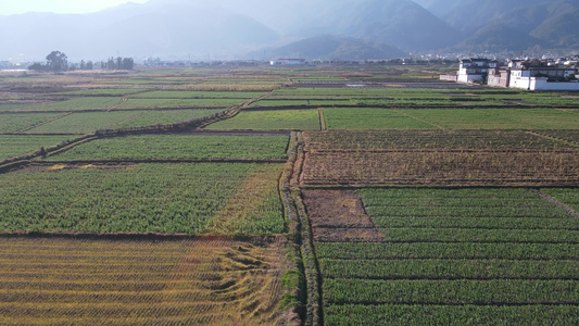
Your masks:
M0 135L0 161L70 139L68 136Z

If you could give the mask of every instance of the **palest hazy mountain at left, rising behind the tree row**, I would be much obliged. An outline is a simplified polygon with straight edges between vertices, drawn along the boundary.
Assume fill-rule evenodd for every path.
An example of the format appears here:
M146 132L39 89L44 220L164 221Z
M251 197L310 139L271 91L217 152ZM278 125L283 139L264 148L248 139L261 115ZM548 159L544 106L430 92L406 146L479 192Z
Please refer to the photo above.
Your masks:
M257 21L216 7L152 1L86 15L0 16L0 58L43 58L53 50L73 60L109 55L206 57L243 53L278 39Z

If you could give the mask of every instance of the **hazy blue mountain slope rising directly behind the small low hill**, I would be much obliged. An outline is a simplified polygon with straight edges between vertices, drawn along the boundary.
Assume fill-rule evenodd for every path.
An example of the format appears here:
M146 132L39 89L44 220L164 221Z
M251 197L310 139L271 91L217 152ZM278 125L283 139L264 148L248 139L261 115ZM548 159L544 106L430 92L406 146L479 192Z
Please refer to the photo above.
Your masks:
M343 35L408 51L461 40L460 33L411 0L216 1L293 38Z

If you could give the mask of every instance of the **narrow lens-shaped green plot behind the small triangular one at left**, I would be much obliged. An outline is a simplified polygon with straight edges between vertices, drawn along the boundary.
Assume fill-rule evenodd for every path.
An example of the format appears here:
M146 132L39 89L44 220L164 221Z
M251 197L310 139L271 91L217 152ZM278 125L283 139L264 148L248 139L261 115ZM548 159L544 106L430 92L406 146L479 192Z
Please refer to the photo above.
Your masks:
M115 111L115 112L91 112L73 113L71 115L54 120L36 128L29 129L27 134L92 134L98 129L114 128L121 124L128 123L137 118L142 112Z

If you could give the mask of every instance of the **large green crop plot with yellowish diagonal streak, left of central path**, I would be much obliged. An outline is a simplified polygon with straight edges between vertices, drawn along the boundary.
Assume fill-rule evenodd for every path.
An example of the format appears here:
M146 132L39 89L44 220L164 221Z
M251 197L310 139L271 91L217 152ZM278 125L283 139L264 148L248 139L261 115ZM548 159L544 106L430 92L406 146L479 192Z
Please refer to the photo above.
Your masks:
M0 231L270 235L284 164L29 166L0 175Z

